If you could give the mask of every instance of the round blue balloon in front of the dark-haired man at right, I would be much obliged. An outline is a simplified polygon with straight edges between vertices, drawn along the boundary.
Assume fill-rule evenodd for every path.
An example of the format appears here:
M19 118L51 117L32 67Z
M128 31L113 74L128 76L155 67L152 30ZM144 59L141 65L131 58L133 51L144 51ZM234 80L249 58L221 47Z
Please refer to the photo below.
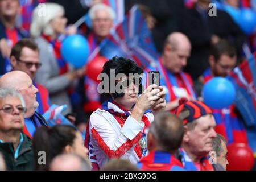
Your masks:
M212 109L223 109L233 103L236 90L228 79L214 77L203 86L202 96L205 104Z

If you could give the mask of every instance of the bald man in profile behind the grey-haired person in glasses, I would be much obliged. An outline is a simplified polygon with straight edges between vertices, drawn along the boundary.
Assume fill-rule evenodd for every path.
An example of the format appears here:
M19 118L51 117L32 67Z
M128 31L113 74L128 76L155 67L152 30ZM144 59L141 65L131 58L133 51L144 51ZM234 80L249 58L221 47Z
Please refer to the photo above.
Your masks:
M23 132L32 137L37 127L48 126L46 120L35 110L38 107L36 93L38 89L33 85L30 76L22 71L11 71L0 78L0 88L14 88L22 94L26 102L27 112L24 114L25 127Z

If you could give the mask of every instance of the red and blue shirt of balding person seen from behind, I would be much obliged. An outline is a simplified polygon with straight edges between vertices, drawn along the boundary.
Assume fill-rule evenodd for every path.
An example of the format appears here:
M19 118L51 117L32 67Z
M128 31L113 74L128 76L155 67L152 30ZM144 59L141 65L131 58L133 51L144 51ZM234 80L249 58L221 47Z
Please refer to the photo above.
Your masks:
M181 171L181 162L167 152L152 151L137 164L142 171Z

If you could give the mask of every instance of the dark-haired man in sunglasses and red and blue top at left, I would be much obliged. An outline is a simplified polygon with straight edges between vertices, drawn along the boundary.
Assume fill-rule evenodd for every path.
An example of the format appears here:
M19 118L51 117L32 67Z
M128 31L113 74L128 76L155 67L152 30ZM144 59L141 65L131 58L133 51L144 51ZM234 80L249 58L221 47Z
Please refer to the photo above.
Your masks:
M34 80L35 74L42 65L39 62L39 49L36 43L31 39L21 39L11 49L10 63L13 70L23 71ZM43 86L33 82L38 93L36 93L36 100L39 103L36 111L44 114L49 109L49 92Z

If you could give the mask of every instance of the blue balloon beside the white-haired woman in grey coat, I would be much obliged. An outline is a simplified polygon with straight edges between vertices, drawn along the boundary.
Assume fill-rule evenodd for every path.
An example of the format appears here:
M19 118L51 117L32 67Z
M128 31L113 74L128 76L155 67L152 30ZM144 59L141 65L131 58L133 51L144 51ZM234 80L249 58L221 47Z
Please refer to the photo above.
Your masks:
M89 56L89 44L84 36L71 35L63 40L61 55L75 68L83 67Z

